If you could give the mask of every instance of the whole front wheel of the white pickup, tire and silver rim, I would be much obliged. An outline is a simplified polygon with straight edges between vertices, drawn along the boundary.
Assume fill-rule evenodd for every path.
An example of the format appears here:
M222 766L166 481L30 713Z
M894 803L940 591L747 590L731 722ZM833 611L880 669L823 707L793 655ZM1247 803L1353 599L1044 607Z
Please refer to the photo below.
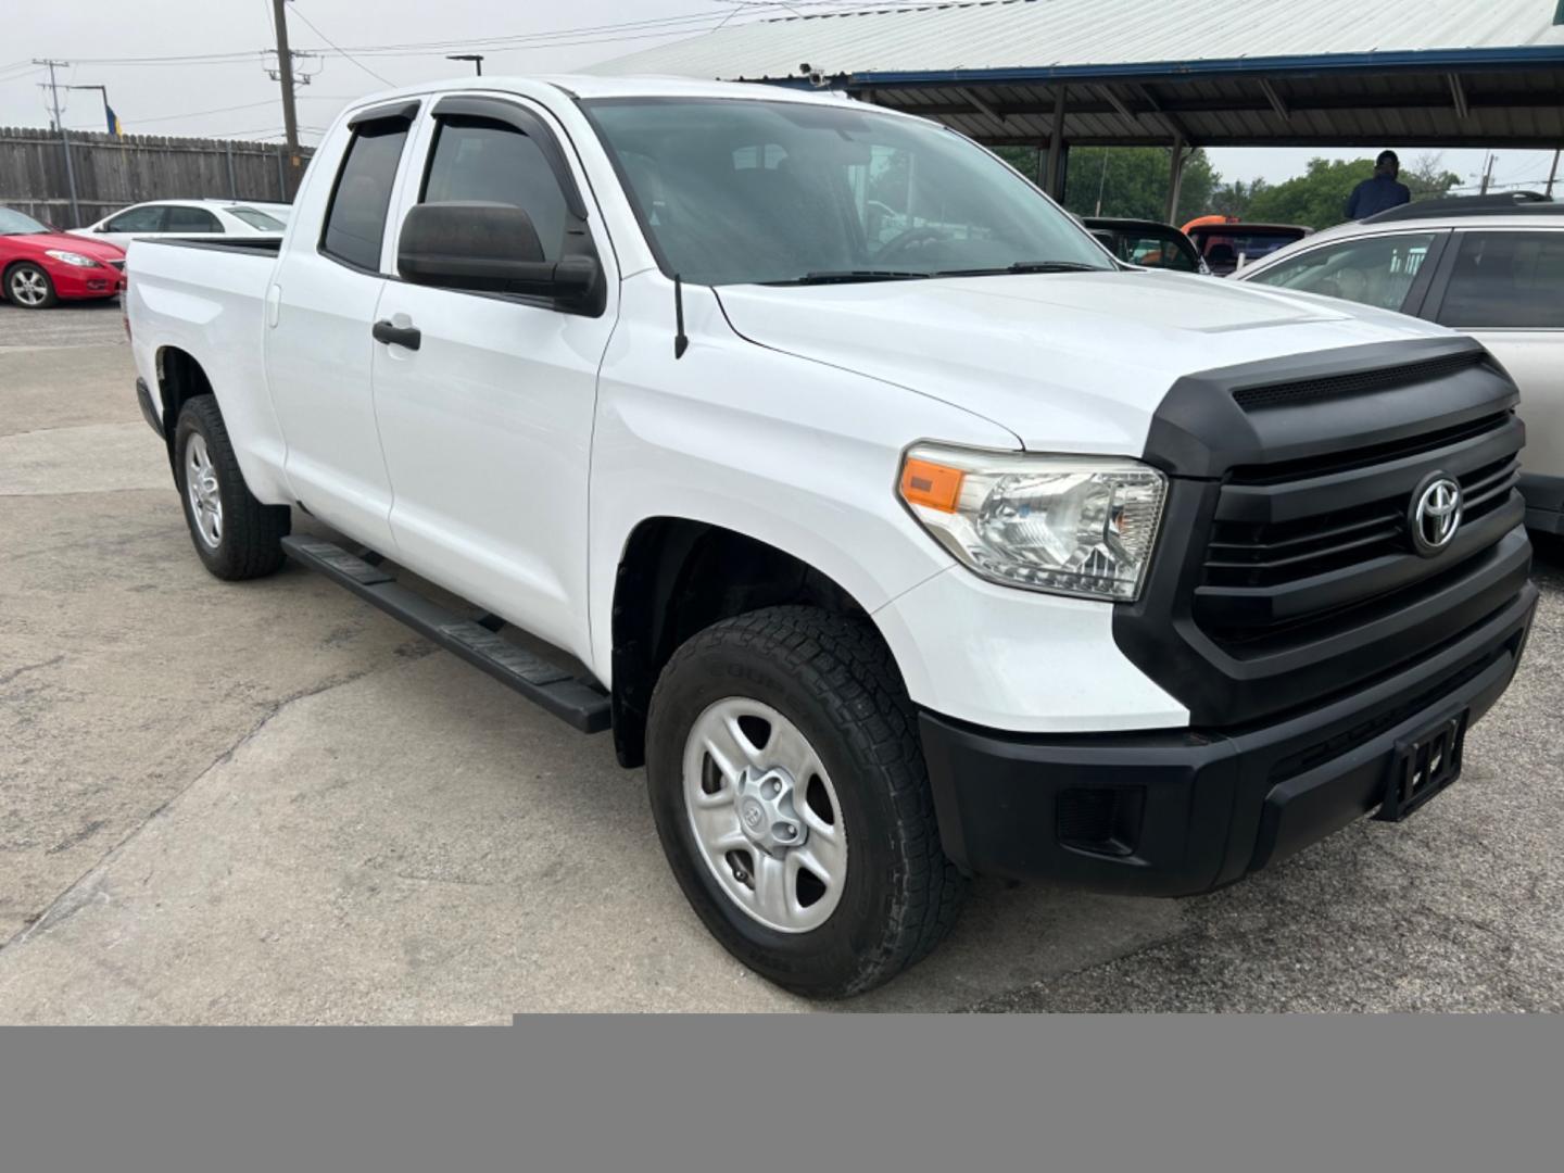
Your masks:
M647 780L690 904L802 995L870 990L956 923L917 715L877 633L813 607L726 619L663 669Z

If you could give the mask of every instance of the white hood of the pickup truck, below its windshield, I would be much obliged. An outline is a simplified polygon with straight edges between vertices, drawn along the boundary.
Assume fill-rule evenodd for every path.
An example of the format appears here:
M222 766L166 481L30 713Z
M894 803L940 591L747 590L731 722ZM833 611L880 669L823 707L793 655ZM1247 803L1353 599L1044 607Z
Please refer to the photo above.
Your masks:
M1182 375L1442 327L1175 272L721 286L734 330L967 408L1032 450L1140 455Z

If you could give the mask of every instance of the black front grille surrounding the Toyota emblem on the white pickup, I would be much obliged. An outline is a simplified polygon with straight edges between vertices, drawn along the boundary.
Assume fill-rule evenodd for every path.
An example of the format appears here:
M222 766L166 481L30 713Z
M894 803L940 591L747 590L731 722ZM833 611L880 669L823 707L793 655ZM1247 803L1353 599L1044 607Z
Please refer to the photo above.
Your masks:
M1146 436L1171 472L1125 655L1190 724L1250 729L1426 660L1525 591L1519 391L1470 339L1419 338L1179 378ZM1414 491L1461 482L1434 557Z

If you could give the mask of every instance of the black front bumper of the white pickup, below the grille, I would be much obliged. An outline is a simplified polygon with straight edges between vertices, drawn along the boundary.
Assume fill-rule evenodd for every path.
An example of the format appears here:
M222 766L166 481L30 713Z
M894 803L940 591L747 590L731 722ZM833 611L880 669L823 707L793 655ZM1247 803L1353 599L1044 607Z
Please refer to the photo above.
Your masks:
M946 854L978 874L1186 896L1379 805L1397 744L1505 691L1537 591L1415 666L1308 712L1221 732L1028 737L924 713Z

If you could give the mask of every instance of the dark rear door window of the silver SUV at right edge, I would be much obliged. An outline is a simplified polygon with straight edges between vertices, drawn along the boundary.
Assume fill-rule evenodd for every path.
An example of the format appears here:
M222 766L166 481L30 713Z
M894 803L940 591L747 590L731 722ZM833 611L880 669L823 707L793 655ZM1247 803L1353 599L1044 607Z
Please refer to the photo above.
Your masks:
M1437 321L1464 330L1564 330L1564 231L1467 231Z

